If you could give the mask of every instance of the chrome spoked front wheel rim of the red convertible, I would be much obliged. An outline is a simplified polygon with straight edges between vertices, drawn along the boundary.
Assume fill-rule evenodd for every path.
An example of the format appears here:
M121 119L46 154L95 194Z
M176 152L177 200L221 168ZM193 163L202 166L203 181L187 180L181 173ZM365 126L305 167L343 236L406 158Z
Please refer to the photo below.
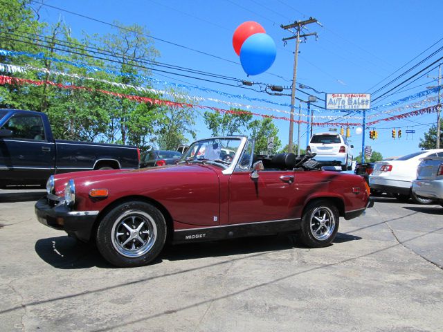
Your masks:
M112 245L125 257L141 257L152 249L157 227L150 214L128 210L114 222L111 230Z

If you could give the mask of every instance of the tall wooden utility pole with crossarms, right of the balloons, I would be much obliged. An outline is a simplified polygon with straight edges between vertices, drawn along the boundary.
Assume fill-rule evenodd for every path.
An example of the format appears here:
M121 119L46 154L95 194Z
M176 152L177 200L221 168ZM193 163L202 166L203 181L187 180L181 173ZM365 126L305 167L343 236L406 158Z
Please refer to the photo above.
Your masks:
M293 55L293 74L292 74L292 93L291 93L291 116L290 116L290 121L289 121L289 142L288 142L288 149L289 152L292 151L292 140L293 140L293 113L294 113L294 109L296 106L296 79L297 79L297 62L298 62L298 44L300 44L300 38L304 38L306 39L306 37L309 36L317 36L317 33L305 33L303 35L300 35L300 32L303 28L305 28L305 26L307 26L307 24L312 24L312 23L318 23L318 21L312 17L309 17L309 19L305 20L305 21L295 21L293 22L293 24L288 24L287 26L281 25L280 27L283 30L289 30L289 32L291 32L293 34L292 37L287 37L287 38L283 38L283 42L284 44L286 44L287 40L290 39L296 39L296 53L294 53ZM294 33L292 30L292 28L296 28L296 33ZM300 118L301 114L299 114L299 118ZM297 154L298 156L300 156L300 121L298 121L298 140L297 140L297 145L298 145L298 151Z

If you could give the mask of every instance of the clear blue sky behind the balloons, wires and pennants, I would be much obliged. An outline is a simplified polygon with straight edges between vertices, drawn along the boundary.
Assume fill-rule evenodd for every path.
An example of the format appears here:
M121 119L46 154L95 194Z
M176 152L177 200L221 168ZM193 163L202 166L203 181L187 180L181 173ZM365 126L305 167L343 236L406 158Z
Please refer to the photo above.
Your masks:
M186 48L173 46L157 40L155 47L161 53L161 57L158 59L160 62L228 75L240 80L253 80L254 82L281 86L291 85L295 41L291 40L287 42L286 46L283 45L282 38L290 37L291 33L282 30L280 24L290 24L296 20L315 17L323 27L316 24L308 26L308 33L318 33L318 41L314 37L309 37L306 43L300 44L297 83L306 84L318 91L328 93L370 93L431 54L433 50L443 46L443 41L439 42L392 75L383 84L372 88L372 86L386 79L398 68L443 37L440 26L443 12L442 1L127 0L123 2L114 0L47 0L45 3L102 21L118 20L126 25L134 23L143 25L156 38L186 46ZM48 22L57 21L62 17L66 24L71 26L75 37L81 37L82 31L89 35L93 33L102 35L112 31L111 27L105 24L99 24L46 6L40 9L40 14L42 19ZM239 64L239 57L233 50L233 32L244 21L256 21L261 24L277 46L275 62L266 73L247 77ZM222 59L204 55L188 48L209 53ZM431 64L431 62L441 57L442 53L436 54L396 83L398 84L411 74ZM430 75L437 76L437 70L431 72ZM287 106L278 105L289 104L289 96L273 96L264 92L255 92L174 75L160 75L155 72L154 77L171 84L197 85L202 89L218 91L219 93L201 91L201 89L183 90L189 95L206 98L206 101L201 102L201 104L208 106L221 109L229 108L227 104L208 100L208 98L212 98L230 103L261 107L260 109L251 109L251 111L273 116L287 116L286 113L279 113L278 111L290 110ZM372 99L397 84L391 84L383 91L375 94ZM407 86L405 89L409 89L408 91L390 95L377 104L373 103L373 106L393 102L408 95L415 95L415 93L425 90L426 86L432 85L436 85L435 80L426 76L422 77ZM305 91L314 92L311 90ZM290 93L290 91L287 91L287 93ZM230 94L243 94L244 97L233 98L230 97ZM431 97L435 95L434 93ZM303 95L298 91L296 96L307 98L307 95ZM324 99L325 96L324 94L318 94L318 97ZM266 99L278 104L257 102L246 98ZM412 108L410 104L420 102L423 99L419 98L395 107L383 107L377 111L369 111L368 116L387 118L399 113L413 111L419 108ZM424 104L423 107L432 104L435 104L435 102ZM324 106L323 102L320 102L319 105ZM263 107L268 109L263 109ZM305 104L302 107L305 107ZM389 111L398 107L406 108L385 116L377 115L379 111ZM296 108L298 109L298 102ZM313 108L315 109L315 107ZM316 116L323 117L340 117L344 114L325 110L315 112ZM349 116L359 117L361 115L352 113ZM408 120L381 122L381 124L371 127L371 129L379 131L379 139L369 140L367 131L366 144L371 145L373 150L380 151L384 157L411 153L419 149L419 138L431 127L430 123L435 123L436 117L436 114L433 113L415 116L408 118ZM316 118L314 121L325 122L329 119ZM349 119L348 121L360 122L356 119ZM342 118L333 122L346 122L346 120ZM210 136L210 132L204 129L201 120L198 120L197 124L199 138ZM275 124L280 129L280 139L284 145L287 144L289 122L275 120ZM406 126L410 127L406 128ZM294 138L296 140L297 125L294 127ZM391 130L398 127L402 127L403 137L393 140ZM362 136L356 134L355 129L354 127L351 128L350 141L355 146L354 155L356 156L361 151ZM409 134L406 138L406 129L414 129L413 136ZM328 127L314 127L314 132L327 130ZM302 125L300 134L302 136L300 145L305 147L305 124Z

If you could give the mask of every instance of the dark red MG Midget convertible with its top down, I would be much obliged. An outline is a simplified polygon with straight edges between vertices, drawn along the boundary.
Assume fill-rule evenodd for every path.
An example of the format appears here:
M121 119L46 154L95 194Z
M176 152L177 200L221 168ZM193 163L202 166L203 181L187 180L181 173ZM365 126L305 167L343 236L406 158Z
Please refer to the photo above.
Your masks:
M224 150L235 154L224 160ZM361 176L306 170L309 156L253 151L244 136L208 138L177 165L51 176L37 219L129 267L149 264L167 242L295 232L306 246L324 247L339 216L355 218L370 204Z

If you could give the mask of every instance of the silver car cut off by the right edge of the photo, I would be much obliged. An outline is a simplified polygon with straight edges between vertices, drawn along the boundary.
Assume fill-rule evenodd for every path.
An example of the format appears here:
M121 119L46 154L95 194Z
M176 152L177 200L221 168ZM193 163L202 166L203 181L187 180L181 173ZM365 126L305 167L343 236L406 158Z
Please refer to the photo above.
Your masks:
M443 157L428 157L419 163L413 193L443 206Z

